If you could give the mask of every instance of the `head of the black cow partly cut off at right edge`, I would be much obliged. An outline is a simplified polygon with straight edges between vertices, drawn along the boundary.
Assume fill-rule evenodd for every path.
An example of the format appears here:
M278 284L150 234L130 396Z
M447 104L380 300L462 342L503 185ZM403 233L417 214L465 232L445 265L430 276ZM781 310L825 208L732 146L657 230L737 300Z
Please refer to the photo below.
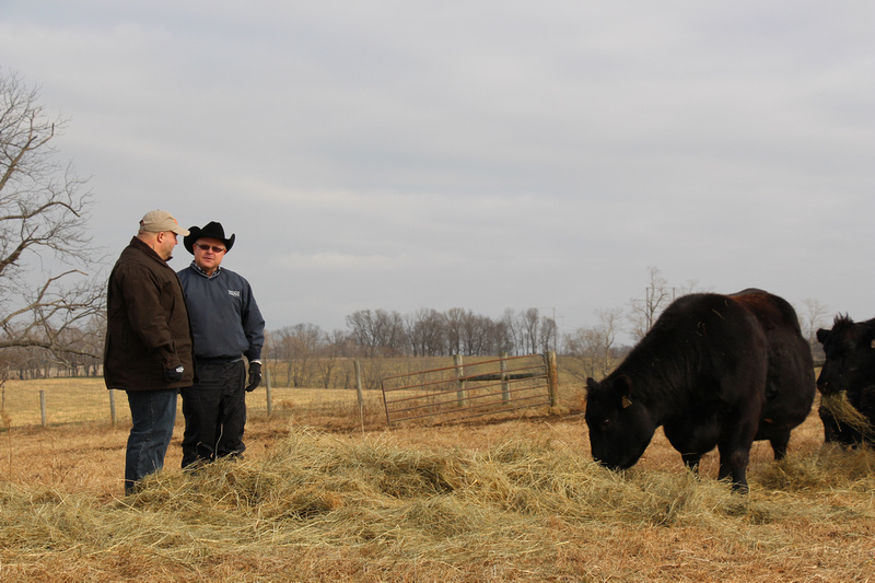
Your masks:
M832 329L817 330L827 359L817 388L824 395L862 388L875 382L875 319L855 324L850 317L836 316Z

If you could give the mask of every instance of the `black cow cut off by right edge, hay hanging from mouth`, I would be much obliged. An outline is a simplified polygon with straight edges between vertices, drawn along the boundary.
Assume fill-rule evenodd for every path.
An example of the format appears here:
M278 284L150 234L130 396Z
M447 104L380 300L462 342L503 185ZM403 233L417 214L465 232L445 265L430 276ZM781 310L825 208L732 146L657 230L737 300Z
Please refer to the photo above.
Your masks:
M827 359L817 388L825 396L844 392L850 403L875 428L875 318L854 323L848 315L836 316L832 329L817 330ZM825 406L818 410L824 422L824 440L842 445L875 443L859 427L842 423Z

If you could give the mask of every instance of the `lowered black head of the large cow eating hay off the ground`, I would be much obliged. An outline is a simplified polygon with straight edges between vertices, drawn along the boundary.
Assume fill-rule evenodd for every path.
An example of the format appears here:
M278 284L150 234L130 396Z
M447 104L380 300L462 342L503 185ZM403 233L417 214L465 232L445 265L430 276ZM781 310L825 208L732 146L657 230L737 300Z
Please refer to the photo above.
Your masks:
M656 430L626 375L609 376L602 383L586 380L586 425L593 459L611 469L633 466Z

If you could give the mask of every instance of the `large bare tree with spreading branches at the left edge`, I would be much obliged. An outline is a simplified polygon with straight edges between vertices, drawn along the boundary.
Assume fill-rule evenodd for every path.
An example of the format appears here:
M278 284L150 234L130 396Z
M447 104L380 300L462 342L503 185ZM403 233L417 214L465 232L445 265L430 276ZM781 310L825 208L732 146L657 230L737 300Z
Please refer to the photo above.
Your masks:
M36 347L95 354L66 342L103 308L103 282L86 266L100 263L88 236L92 199L86 180L57 163L51 120L37 91L0 72L0 349Z

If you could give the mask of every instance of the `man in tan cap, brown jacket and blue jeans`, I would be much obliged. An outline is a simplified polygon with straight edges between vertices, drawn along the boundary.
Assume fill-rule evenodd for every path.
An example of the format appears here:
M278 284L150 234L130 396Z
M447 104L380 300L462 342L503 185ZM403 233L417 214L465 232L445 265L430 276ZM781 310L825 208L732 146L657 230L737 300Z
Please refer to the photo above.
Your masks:
M191 327L176 272L167 265L177 235L173 215L148 212L116 261L106 291L106 388L128 394L133 427L125 456L125 493L164 466L179 388L194 383Z

